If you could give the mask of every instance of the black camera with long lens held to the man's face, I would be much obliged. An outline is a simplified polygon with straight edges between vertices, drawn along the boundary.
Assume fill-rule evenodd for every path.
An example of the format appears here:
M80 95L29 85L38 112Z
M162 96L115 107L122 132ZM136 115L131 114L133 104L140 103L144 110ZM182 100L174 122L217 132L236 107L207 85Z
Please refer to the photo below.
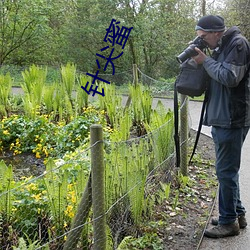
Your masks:
M199 36L197 36L190 45L180 54L176 57L177 61L179 63L183 63L188 58L192 56L198 55L198 53L195 51L195 47L199 48L200 50L203 50L207 48L207 43Z

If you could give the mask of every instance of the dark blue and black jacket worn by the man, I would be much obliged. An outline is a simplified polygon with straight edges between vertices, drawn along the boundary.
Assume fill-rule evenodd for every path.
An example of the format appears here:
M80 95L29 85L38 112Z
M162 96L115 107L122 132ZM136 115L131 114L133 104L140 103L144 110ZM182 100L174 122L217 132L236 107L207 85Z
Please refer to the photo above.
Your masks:
M237 27L227 30L218 50L203 63L211 77L204 125L250 126L250 46Z

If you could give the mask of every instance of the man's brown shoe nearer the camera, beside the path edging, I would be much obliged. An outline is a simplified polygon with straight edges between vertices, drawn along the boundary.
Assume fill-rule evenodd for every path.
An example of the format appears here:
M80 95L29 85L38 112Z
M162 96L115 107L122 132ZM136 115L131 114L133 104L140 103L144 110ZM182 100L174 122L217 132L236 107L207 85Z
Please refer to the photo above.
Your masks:
M223 238L228 236L239 235L240 227L238 222L232 224L222 225L219 224L215 227L205 230L204 235L209 238Z

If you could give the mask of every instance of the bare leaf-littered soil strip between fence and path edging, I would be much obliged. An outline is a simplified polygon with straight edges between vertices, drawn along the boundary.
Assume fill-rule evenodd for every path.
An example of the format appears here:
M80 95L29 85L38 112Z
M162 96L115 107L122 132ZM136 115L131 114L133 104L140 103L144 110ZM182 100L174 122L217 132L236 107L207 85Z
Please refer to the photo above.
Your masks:
M195 134L191 131L191 147ZM185 188L179 186L179 201L176 209L173 209L171 202L158 207L161 214L167 215L167 227L160 228L158 232L158 235L162 235L164 250L199 249L203 232L215 204L218 183L214 168L215 154L212 139L201 134L196 152L194 163L188 170L192 183L187 184ZM178 188L177 184L176 188ZM174 200L175 197L176 194L173 194L172 199Z

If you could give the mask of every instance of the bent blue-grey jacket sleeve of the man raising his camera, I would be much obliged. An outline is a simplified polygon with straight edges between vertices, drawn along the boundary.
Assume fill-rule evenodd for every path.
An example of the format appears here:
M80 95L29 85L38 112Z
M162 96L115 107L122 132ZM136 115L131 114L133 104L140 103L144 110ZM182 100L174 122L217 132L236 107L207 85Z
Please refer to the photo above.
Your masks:
M218 61L207 57L203 66L209 76L227 87L237 87L249 67L249 46L244 38L235 39ZM221 61L220 61L221 60ZM223 61L222 61L223 60Z

